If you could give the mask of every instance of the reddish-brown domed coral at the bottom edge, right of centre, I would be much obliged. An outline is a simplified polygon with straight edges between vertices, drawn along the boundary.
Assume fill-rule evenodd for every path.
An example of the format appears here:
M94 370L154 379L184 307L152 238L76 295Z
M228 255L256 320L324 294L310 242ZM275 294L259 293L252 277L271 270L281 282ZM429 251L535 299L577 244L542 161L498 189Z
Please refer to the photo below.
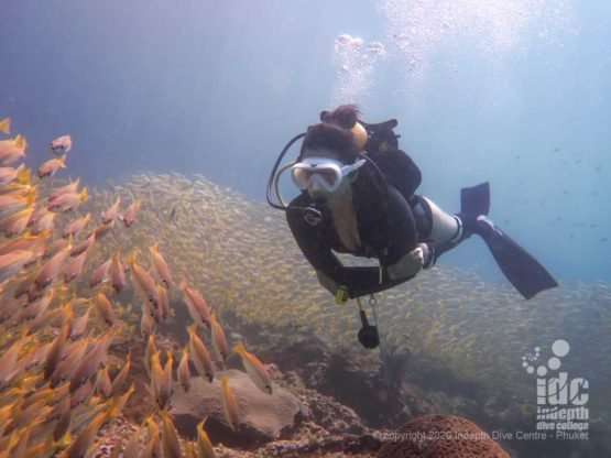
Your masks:
M509 458L489 434L454 415L421 416L382 439L379 458Z

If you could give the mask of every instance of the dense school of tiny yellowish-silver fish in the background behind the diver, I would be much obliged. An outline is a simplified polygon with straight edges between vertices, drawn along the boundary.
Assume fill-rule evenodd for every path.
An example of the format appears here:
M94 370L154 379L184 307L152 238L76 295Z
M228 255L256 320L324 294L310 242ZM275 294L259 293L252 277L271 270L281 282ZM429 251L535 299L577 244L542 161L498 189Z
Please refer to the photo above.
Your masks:
M363 351L356 338L357 306L353 302L336 305L319 286L283 212L201 175L133 175L97 190L95 201L103 205L96 209L112 205L116 195L126 201L140 199L139 223L132 235L140 246L162 240L160 249L171 271L181 272L182 276L174 276L200 329L210 329L209 305L216 316L231 312L240 323L262 326L268 329L263 335L315 332L332 347ZM108 257L126 246L126 237L123 231L110 233ZM467 241L459 250L471 249L471 243ZM367 262L340 259L346 264ZM206 302L193 285L205 288ZM575 373L598 386L605 386L611 378L607 353L593 351L600 342L611 344L611 286L607 282L563 280L559 288L524 301L500 272L483 280L440 263L375 296L382 356L440 361L458 379L511 396L508 408L519 416L524 405L534 402L533 378L522 367L522 357L534 347L549 352L556 339L566 339L576 353L569 358ZM216 350L210 348L209 353ZM206 373L203 361L200 370ZM607 408L611 392L602 390L590 404L601 419L611 422Z

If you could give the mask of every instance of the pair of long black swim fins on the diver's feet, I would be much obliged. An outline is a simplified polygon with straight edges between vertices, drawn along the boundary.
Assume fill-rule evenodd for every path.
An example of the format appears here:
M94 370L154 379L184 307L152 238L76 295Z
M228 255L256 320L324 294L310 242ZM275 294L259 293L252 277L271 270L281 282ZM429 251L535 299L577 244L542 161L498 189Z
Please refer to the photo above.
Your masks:
M489 183L461 189L460 200L461 215L471 218L478 216L474 225L471 220L466 226L471 226L472 231L481 236L501 271L524 298L530 299L542 291L558 286L556 280L532 254L485 218L490 210Z

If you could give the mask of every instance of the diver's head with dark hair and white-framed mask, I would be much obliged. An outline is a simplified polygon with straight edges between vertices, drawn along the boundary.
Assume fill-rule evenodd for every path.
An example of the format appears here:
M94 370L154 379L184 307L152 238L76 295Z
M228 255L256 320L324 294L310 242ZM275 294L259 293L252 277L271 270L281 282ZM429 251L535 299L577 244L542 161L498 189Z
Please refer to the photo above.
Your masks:
M314 199L350 193L357 171L364 163L359 153L367 141L367 132L357 121L356 107L339 107L330 113L324 111L320 118L323 122L308 129L292 170L295 185L307 190Z

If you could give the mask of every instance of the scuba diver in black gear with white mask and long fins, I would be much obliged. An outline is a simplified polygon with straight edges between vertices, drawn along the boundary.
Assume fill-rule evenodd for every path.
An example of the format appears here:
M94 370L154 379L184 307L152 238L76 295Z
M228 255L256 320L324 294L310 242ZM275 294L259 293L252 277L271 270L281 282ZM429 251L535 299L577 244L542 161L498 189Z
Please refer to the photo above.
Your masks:
M268 201L286 211L297 244L336 301L404 283L473 233L526 299L557 286L537 260L488 218L488 183L461 189L457 214L416 195L421 172L399 149L396 126L394 119L367 123L353 105L323 111L319 123L284 148L268 182ZM279 173L282 157L302 138L296 161ZM285 205L279 178L288 168L301 194ZM270 198L272 184L281 205ZM380 266L345 266L334 251L375 258ZM368 326L362 309L361 319Z

